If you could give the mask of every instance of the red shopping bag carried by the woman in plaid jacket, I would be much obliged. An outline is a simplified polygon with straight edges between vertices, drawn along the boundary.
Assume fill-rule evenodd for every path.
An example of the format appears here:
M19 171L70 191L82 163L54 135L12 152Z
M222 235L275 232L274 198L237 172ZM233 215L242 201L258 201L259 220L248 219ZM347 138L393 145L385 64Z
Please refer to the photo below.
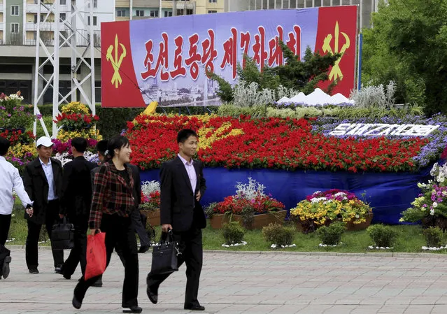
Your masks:
M85 280L96 277L106 271L106 233L100 232L94 236L87 236L87 266L85 266Z

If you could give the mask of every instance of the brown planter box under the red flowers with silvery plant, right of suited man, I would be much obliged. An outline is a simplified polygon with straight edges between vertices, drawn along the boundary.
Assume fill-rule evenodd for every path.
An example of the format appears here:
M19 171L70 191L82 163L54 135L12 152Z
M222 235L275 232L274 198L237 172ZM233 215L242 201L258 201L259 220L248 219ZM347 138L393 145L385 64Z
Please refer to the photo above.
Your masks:
M249 226L244 226L246 229L262 229L262 227L268 226L272 222L283 223L285 219L285 214L287 210L279 210L277 212L258 214L253 217L253 223ZM241 215L225 215L225 214L214 214L213 217L210 218L211 228L213 229L221 229L222 225L229 222L230 219L232 221L242 221Z

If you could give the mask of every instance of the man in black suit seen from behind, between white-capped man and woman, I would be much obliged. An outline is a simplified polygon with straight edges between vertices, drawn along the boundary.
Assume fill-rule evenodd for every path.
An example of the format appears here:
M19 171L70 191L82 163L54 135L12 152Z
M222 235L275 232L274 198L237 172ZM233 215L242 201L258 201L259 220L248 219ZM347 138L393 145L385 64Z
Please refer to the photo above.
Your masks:
M85 138L75 137L71 140L71 153L74 159L65 164L64 176L62 177L62 197L59 216L63 218L66 215L75 229L74 247L71 249L69 257L59 272L66 279L71 278L78 263L84 275L85 265L87 264L85 252L87 250L87 229L90 206L92 204L90 173L97 165L87 162L84 158L86 149L87 141Z

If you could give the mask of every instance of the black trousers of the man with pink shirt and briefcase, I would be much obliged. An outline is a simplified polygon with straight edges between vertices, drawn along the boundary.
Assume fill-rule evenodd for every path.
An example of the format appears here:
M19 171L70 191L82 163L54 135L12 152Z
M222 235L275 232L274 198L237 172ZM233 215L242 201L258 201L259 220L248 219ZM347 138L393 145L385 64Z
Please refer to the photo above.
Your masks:
M203 261L203 248L201 241L201 229L192 227L190 231L173 231L175 241L178 242L181 255L178 255L178 266L183 262L186 264L186 292L185 306L198 305L197 294L199 293L200 272ZM148 285L158 287L170 273L164 275L148 274Z

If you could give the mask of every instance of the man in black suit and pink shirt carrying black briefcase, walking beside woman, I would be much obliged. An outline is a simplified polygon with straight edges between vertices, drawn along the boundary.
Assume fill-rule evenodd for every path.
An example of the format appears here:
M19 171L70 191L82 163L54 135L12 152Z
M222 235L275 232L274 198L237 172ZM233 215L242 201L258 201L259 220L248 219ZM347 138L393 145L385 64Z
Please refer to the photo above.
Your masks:
M199 304L199 280L203 259L201 229L206 227L204 210L199 201L206 190L204 166L193 160L197 150L197 134L183 129L177 134L178 156L162 165L160 171L162 231L172 230L181 255L178 266L186 264L185 310L204 311ZM147 293L150 301L158 301L158 287L169 274L149 273Z

